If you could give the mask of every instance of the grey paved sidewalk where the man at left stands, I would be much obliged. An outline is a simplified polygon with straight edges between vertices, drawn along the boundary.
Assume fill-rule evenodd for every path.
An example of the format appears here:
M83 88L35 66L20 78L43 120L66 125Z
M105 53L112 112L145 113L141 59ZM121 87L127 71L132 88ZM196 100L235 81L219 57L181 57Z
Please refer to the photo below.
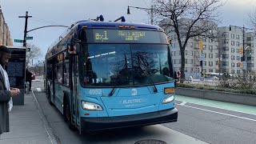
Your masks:
M58 144L34 93L24 97L24 106L10 111L10 132L1 135L0 144Z

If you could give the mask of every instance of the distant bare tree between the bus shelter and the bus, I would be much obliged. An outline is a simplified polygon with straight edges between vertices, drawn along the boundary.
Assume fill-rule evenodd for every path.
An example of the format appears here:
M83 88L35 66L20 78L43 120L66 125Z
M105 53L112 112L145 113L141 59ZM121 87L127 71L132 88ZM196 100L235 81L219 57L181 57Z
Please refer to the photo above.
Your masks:
M30 52L26 53L26 66L28 66L32 59L39 58L42 53L40 48L33 43L27 43L26 46L30 48Z

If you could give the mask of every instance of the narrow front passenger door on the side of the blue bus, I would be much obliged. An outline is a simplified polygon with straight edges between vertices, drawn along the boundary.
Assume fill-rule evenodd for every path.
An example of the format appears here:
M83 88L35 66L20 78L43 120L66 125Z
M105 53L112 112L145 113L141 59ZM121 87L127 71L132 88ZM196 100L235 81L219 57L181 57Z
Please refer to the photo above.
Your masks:
M78 55L72 55L70 57L71 62L71 84L72 84L72 92L71 92L71 114L73 122L77 124L78 117Z

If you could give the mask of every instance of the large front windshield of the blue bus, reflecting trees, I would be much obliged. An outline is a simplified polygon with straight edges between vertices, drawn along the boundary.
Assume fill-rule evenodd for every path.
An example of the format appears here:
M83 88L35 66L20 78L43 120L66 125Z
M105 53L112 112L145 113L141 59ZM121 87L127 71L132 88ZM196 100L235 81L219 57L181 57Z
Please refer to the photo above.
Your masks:
M82 86L145 86L170 82L166 44L82 43Z

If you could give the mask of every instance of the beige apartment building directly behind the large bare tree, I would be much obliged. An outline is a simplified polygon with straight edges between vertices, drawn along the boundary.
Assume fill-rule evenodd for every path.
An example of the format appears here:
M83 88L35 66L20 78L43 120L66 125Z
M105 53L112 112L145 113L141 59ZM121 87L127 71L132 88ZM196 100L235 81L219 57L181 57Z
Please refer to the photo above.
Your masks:
M188 18L182 18L180 22L190 22ZM215 25L214 23L212 23ZM198 22L200 25L200 22ZM215 30L208 30L207 33L217 35L217 25L215 25ZM182 33L182 27L180 29ZM181 67L181 54L180 48L178 45L177 34L174 30L169 30L170 33L167 34L171 39L172 47L171 47L171 55L173 58L174 69L180 70ZM208 35L209 35L208 34ZM207 35L207 34L206 34ZM185 41L185 38L182 38L182 42ZM199 49L199 42L202 42L202 50ZM202 58L203 56L203 58ZM185 48L185 68L184 74L186 78L189 78L190 75L193 78L200 78L201 71L206 72L218 72L219 70L219 54L218 54L218 41L216 38L208 38L208 37L194 37L190 38L186 44ZM202 61L202 66L200 66L200 60Z

